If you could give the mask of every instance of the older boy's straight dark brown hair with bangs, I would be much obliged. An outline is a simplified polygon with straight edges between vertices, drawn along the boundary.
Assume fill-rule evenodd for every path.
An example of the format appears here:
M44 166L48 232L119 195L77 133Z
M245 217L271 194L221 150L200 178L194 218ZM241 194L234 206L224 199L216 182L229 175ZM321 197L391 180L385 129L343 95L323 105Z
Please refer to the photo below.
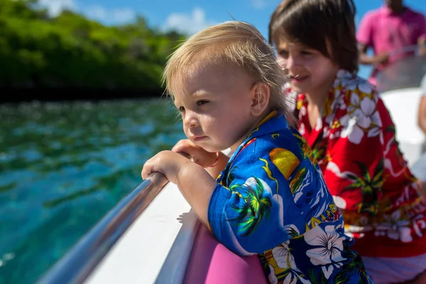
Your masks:
M352 0L284 0L271 16L269 43L301 43L320 51L339 68L356 72L355 13Z

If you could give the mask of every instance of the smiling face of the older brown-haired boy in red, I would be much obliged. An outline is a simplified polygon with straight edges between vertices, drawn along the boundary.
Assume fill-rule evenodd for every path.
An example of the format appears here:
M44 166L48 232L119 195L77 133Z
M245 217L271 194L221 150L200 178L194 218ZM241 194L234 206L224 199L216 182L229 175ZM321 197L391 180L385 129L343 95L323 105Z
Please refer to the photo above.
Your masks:
M277 45L278 64L288 72L296 92L316 93L329 89L339 67L320 51L299 43L280 41Z

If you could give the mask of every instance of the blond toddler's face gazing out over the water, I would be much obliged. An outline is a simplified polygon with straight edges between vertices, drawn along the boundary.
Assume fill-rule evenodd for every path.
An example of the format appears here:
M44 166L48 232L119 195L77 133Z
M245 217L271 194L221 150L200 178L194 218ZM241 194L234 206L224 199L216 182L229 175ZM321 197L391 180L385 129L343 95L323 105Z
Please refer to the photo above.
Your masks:
M256 122L253 78L226 65L196 67L175 94L185 135L206 151L235 150Z

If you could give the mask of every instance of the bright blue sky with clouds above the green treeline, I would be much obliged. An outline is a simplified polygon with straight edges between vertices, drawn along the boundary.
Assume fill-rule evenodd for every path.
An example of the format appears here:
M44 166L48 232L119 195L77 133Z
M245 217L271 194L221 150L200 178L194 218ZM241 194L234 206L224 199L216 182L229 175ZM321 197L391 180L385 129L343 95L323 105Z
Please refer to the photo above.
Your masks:
M89 18L108 25L133 21L141 15L152 27L163 30L175 28L186 33L195 33L214 23L231 20L229 13L239 21L252 23L268 35L268 21L280 0L39 0L50 13L72 9ZM405 5L426 13L425 0L405 0ZM355 0L356 23L366 11L377 9L383 0ZM369 69L361 67L360 75L368 76Z

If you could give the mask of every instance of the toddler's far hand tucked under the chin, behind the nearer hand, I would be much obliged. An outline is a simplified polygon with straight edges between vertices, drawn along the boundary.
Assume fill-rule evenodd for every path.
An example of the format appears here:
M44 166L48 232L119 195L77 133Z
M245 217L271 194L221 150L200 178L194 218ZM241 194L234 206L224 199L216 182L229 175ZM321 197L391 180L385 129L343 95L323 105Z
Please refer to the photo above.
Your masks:
M194 163L201 165L203 168L213 165L217 158L216 153L205 151L204 148L195 145L189 139L183 139L176 143L172 151L189 155Z

